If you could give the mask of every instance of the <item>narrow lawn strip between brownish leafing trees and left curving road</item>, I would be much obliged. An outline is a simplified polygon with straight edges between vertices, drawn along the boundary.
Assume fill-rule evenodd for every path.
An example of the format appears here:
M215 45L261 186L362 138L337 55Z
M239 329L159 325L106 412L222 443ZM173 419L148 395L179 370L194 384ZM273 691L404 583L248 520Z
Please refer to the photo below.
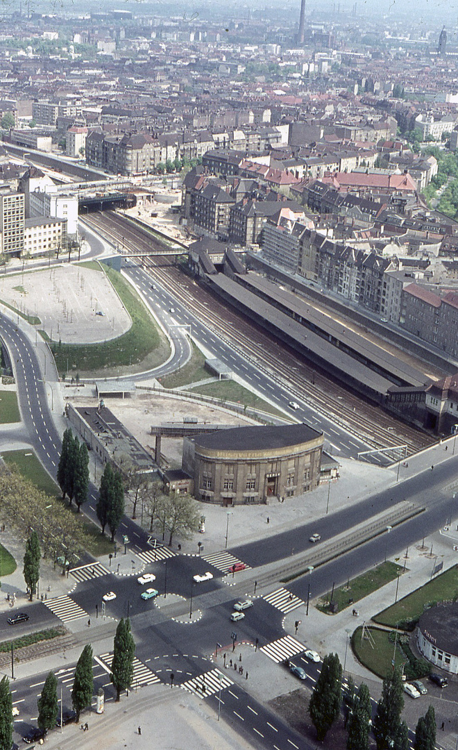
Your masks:
M58 484L52 481L48 472L43 469L40 461L31 451L9 451L2 454L4 463L10 466L16 466L19 473L28 481L31 481L39 490L46 492L46 494L61 500L61 490ZM67 501L64 502L65 506L68 507ZM102 536L100 528L96 526L92 521L85 517L83 514L76 513L76 506L72 505L73 513L79 517L82 524L82 528L88 535L88 546L87 550L94 557L107 555L113 551L113 544L109 541L109 538ZM84 505L82 506L84 509ZM71 509L70 509L71 512ZM1 568L3 571L3 568Z

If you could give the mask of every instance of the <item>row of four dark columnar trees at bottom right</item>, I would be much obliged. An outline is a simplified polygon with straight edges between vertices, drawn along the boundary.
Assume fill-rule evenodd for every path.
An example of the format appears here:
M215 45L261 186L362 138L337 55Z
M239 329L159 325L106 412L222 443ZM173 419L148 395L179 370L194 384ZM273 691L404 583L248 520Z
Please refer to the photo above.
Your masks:
M343 701L342 665L337 654L327 654L322 670L310 697L309 713L320 742L325 739L335 721L340 717ZM377 703L372 721L370 692L364 682L355 688L352 679L346 690L346 718L348 732L347 750L367 750L370 728L376 738L377 750L407 750L409 728L401 714L404 707L403 681L400 671L388 674L382 687L382 697ZM436 745L436 718L430 706L426 715L418 720L415 731L415 750L434 750Z

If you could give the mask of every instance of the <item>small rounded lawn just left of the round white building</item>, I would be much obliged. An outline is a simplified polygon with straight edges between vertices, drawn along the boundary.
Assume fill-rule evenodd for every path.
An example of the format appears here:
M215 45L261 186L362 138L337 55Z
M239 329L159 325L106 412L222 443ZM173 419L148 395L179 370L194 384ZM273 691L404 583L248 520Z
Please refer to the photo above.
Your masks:
M430 673L430 664L423 658L416 658L409 647L409 637L403 633L366 628L371 635L361 639L363 628L356 628L352 634L352 650L355 656L371 672L382 679L394 666L402 668L407 679L420 679Z

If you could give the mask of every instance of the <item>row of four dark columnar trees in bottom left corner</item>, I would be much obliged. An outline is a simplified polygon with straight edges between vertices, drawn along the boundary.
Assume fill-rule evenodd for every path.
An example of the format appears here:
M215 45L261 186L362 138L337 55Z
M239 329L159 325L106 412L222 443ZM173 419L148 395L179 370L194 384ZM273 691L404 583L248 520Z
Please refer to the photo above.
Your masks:
M121 619L116 628L113 642L112 684L116 690L116 700L121 691L129 690L133 679L133 658L135 656L135 642L130 632L129 619ZM91 706L94 693L94 676L92 671L92 646L82 649L76 664L75 678L71 700L76 712L75 721L79 721L80 713ZM55 727L58 721L58 681L54 673L49 672L43 685L43 690L37 700L37 724L45 733ZM0 750L10 750L13 744L13 703L11 700L10 682L4 676L0 682Z

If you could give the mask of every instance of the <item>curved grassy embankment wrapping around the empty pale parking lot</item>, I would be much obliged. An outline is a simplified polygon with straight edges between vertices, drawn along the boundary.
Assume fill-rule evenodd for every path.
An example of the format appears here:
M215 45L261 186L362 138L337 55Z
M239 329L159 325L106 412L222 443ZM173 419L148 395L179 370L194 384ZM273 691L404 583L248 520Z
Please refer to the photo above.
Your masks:
M105 272L130 314L132 326L118 338L99 344L60 344L53 341L52 353L58 371L62 374L67 372L67 362L71 373L94 373L103 368L142 362L154 350L158 350L157 364L159 360L163 361L160 335L147 308L121 274L109 268Z

